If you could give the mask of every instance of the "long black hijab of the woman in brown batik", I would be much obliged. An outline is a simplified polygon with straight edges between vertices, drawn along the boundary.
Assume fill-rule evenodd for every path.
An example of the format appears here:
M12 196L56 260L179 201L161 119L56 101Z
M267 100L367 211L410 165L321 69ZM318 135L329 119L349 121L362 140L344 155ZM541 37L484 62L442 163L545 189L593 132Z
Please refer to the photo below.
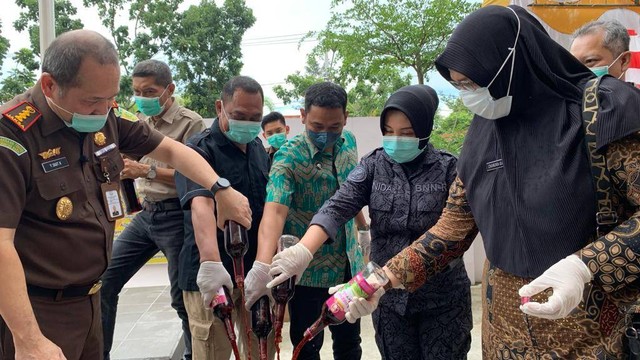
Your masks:
M511 112L497 120L474 117L458 174L489 261L512 274L536 277L595 232L596 198L581 118L584 84L594 75L525 9L510 8L488 6L467 16L436 68L448 80L451 69L487 86L514 45L519 19ZM506 95L510 71L508 61L489 88L494 98ZM640 97L633 91L603 78L596 127L600 148L640 129ZM620 95L635 106L635 115L625 114L628 104ZM606 103L609 111L603 111Z

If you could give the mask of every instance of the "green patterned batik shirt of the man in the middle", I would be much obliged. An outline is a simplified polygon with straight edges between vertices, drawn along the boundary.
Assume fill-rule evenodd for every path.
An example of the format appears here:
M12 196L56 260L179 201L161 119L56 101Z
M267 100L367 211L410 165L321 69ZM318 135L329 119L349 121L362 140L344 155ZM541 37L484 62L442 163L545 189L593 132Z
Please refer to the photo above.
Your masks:
M343 183L355 168L358 152L352 133L343 130L333 148L333 156L319 152L305 131L276 152L266 201L289 207L283 234L302 238L313 215L338 189L336 177ZM348 265L352 274L364 267L353 219L338 231L335 241L314 254L298 285L328 288L340 284Z

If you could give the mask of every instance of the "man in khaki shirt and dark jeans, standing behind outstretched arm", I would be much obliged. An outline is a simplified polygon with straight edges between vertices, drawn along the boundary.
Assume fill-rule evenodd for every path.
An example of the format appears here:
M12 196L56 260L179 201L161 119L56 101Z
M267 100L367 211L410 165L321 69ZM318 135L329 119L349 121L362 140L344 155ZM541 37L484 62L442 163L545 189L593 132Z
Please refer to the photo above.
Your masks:
M206 128L202 117L175 101L175 84L167 64L145 60L133 69L133 92L142 121L181 143ZM138 179L143 210L113 244L111 263L102 276L102 328L104 358L110 359L118 308L124 284L158 251L167 258L171 283L171 306L176 309L184 332L184 359L191 359L189 320L178 288L178 256L184 242L183 212L173 174L167 164L144 156L140 161L124 159L122 178Z

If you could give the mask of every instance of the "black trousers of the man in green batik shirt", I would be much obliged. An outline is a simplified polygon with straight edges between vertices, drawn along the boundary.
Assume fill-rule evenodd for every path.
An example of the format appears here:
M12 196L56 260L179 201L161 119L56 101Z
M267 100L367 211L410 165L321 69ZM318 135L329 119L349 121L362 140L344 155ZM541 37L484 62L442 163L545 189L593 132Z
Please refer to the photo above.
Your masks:
M289 302L291 327L289 336L293 346L297 346L304 331L320 316L322 305L329 298L329 289L308 286L296 286L296 293ZM340 325L329 326L333 339L333 358L335 360L359 360L362 357L360 343L360 320L355 324L347 321ZM320 349L324 342L324 331L311 339L302 348L298 360L319 360Z

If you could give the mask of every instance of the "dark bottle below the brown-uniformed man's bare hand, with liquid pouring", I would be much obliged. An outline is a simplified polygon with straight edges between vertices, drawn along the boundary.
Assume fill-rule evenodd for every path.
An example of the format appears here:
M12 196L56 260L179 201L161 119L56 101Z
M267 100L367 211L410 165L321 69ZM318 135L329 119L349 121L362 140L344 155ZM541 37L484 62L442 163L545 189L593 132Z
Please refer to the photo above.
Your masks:
M249 250L249 235L247 234L247 229L233 220L225 222L224 249L233 260L233 273L238 290L240 290L240 301L244 304L244 255ZM242 313L242 322L246 329L247 348L251 349L249 319L247 319L246 311L242 311ZM251 360L251 351L247 352L247 359Z

